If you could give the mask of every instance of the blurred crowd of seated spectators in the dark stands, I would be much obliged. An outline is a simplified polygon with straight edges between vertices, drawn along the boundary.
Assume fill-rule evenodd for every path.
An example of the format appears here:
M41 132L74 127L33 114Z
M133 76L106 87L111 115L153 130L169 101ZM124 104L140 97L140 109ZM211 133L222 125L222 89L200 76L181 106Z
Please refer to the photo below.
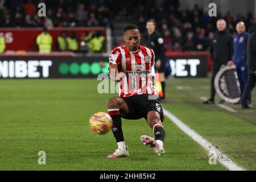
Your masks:
M37 15L38 3L47 5L47 16ZM0 27L95 27L112 26L112 19L121 11L138 24L142 35L148 19L156 19L159 32L163 35L167 51L207 51L216 31L217 18L212 18L203 7L180 10L179 0L94 0L94 1L37 1L0 0ZM228 30L236 35L236 23L243 21L247 30L254 23L254 17L233 17L229 12L224 18Z

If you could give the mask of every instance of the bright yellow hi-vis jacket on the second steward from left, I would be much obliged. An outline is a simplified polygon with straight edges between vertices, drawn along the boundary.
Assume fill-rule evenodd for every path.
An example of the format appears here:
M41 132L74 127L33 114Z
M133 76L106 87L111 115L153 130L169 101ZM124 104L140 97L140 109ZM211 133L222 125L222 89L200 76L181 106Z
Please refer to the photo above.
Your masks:
M52 36L42 32L36 38L36 44L38 44L39 52L50 53L52 49Z

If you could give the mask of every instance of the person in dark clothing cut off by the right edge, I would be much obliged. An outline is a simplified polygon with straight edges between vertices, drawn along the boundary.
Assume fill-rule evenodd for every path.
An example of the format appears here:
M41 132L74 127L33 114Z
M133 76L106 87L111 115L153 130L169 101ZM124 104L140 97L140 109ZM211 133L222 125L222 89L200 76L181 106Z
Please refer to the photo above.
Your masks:
M248 97L253 90L256 82L256 24L249 30L249 38L247 41L247 65L248 65L248 81L242 95L242 108L251 108L247 102Z

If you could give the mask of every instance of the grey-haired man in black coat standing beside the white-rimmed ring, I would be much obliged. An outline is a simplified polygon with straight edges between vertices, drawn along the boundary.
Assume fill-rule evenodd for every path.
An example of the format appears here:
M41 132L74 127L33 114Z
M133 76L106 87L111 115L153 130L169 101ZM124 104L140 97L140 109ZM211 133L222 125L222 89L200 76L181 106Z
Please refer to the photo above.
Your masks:
M203 104L214 104L216 90L214 88L214 78L221 68L221 65L233 65L233 36L226 30L226 21L224 19L217 20L217 32L214 35L213 42L210 46L210 57L213 61L212 78L209 100ZM221 103L224 101L221 101Z

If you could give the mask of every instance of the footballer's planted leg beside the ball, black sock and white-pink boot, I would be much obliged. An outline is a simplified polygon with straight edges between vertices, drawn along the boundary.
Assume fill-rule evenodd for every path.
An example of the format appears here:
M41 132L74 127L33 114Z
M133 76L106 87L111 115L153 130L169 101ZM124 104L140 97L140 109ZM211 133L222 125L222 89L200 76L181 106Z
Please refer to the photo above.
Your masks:
M120 156L129 156L125 140L123 138L122 121L121 116L125 116L129 113L129 107L121 97L110 98L108 102L108 113L112 117L113 127L112 132L115 140L117 141L118 149L108 158L118 158Z

